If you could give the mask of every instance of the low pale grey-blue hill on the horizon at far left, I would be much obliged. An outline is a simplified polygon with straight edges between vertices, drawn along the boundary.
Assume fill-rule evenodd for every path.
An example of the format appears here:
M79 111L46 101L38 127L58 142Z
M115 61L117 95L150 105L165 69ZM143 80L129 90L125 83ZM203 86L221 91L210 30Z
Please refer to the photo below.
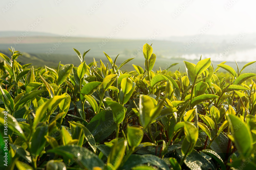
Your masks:
M19 37L24 34L25 31L0 31L0 37ZM45 32L29 32L27 36L60 36L58 34L51 34Z

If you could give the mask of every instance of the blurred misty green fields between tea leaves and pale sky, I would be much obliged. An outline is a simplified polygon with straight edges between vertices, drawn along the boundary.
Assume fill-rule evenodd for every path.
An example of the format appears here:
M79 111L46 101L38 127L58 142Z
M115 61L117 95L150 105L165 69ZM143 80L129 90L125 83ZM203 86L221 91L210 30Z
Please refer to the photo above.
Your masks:
M12 32L13 34L13 32ZM209 37L209 39L212 37ZM64 41L65 40L65 41ZM54 44L60 45L58 48L55 48ZM184 46L186 46L186 41L189 41L189 38L186 38L183 41L178 42L174 41L158 41L158 40L118 40L111 39L106 42L105 45L101 46L106 40L102 38L81 38L81 37L61 37L61 36L31 36L25 37L24 40L21 40L20 43L15 44L17 37L0 37L0 52L5 55L11 55L8 49L13 47L16 50L19 50L23 53L22 58L18 58L17 61L22 64L32 63L34 67L43 67L44 65L52 68L57 68L59 61L62 64L74 64L74 66L79 66L80 61L77 58L76 53L73 51L72 47L76 47L79 51L89 50L86 55L86 62L93 62L93 58L99 61L102 60L104 63L108 62L105 58L105 53L107 53L112 58L115 58L118 54L120 60L126 60L127 58L134 58L133 63L136 63L138 66L144 67L144 59L142 48L145 43L152 44L154 47L155 54L158 56L158 59L155 62L154 69L161 67L162 69L168 68L173 63L179 63L176 66L172 67L170 71L178 70L180 67L181 72L185 72L183 60L197 63L198 59L189 59L182 58L183 55L196 55L200 57L202 54L214 54L221 53L223 48L227 47L228 44L216 43L196 43L189 50L184 51ZM99 45L100 44L100 45ZM56 45L57 46L57 45ZM230 51L230 54L236 53L239 50L254 49L255 46L252 44L238 44L236 49ZM46 54L48 53L48 54ZM202 55L204 57L204 55ZM245 58L246 60L247 58ZM117 61L117 64L121 64L121 61ZM212 58L214 66L219 64L221 61L226 61L225 56L218 61L215 58ZM238 66L242 67L247 62L238 62ZM234 60L228 61L227 64L233 68L236 67ZM256 64L253 64L251 67L247 67L245 72L256 72ZM127 64L123 68L123 71L133 70L132 64ZM223 70L225 71L225 70Z

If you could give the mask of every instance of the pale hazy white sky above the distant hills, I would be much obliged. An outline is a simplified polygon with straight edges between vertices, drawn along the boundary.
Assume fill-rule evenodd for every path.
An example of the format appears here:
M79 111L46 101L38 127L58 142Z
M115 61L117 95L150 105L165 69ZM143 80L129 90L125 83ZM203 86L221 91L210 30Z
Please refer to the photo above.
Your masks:
M0 31L66 34L73 28L72 36L165 38L208 26L205 34L253 33L255 6L253 0L1 0Z

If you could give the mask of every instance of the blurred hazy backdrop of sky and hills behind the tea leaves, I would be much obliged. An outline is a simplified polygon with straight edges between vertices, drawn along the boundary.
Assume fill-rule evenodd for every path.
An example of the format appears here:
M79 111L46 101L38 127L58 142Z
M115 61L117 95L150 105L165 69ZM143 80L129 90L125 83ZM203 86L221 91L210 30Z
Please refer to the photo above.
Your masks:
M73 48L91 49L86 62L144 66L142 46L152 44L157 55L154 69L166 69L183 60L197 63L211 57L213 63L241 67L256 60L256 1L252 0L1 0L0 52L11 46L24 55L22 63L57 67L79 64ZM184 67L182 67L184 68ZM247 68L256 72L256 64Z

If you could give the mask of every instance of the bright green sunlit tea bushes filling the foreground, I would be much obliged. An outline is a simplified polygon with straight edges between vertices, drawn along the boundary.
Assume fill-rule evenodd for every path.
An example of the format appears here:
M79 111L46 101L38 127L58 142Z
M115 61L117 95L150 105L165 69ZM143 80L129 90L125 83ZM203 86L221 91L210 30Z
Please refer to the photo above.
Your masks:
M57 69L22 66L10 51L0 54L1 169L256 169L256 74L241 73L254 62L184 61L186 74L171 77L175 64L152 70L148 44L145 69L131 72L121 69L133 58L86 63L89 50Z

